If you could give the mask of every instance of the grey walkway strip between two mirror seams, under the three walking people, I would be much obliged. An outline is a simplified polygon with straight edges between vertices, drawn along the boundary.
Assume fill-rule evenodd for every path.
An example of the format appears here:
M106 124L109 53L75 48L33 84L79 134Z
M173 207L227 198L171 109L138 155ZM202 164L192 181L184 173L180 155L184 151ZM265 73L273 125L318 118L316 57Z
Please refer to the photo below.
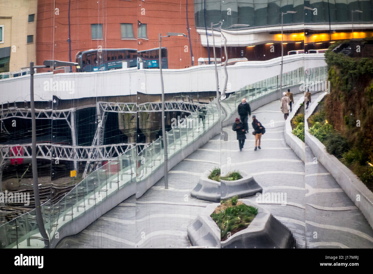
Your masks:
M294 101L298 101L301 96L303 94L294 95ZM251 134L253 115L266 128L266 133L261 137L261 149L257 151L254 151L255 138ZM222 143L222 170L244 170L253 175L263 188L263 193L247 199L269 210L291 230L298 247L305 248L304 163L285 142L285 119L280 111L280 100L253 111L248 122L249 133L242 151L239 151L232 126L225 127L228 142ZM286 197L286 205L282 205L280 199L265 199L267 195L275 193L282 194L283 201Z

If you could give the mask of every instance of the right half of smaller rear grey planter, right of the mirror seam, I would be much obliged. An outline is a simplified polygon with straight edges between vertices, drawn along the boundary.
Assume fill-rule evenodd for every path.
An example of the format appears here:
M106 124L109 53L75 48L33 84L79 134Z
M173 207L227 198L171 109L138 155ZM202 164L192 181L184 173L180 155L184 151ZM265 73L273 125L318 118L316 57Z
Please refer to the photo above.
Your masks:
M242 179L235 181L225 181L221 180L221 199L227 200L233 196L238 196L238 198L244 198L253 196L256 193L261 193L263 189L254 180L254 177L240 171Z

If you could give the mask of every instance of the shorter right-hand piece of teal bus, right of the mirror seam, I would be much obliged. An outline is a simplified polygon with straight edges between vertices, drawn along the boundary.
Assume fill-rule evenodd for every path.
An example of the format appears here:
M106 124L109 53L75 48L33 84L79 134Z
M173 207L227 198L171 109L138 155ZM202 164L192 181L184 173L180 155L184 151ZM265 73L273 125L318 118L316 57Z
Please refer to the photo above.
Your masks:
M167 48L162 47L162 69L168 69ZM151 48L150 50L141 50L138 52L138 64L140 69L142 64L143 69L159 69L159 48Z

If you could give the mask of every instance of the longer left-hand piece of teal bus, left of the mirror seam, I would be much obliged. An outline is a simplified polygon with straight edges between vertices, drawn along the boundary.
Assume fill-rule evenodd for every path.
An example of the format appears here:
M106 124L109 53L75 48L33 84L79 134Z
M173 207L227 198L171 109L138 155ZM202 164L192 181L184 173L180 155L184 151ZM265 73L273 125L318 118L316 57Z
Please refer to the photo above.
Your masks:
M77 72L92 72L137 67L137 50L134 48L97 48L79 51L75 56Z

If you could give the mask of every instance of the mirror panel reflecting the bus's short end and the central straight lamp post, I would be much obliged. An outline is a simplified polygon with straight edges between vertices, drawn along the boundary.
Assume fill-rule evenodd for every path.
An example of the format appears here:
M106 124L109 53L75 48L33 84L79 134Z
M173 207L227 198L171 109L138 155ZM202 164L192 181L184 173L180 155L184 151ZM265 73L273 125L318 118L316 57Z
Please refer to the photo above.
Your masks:
M197 3L199 8L204 4ZM206 18L206 31L211 34L211 22L220 21L220 1L206 1L206 6L206 17L199 13L196 20L205 26ZM209 190L205 185L200 192L200 178L219 166L220 149L217 142L211 143L213 160L207 160L206 151L196 149L218 133L214 44L220 63L221 39L216 30L208 37L209 45L201 47L193 10L191 1L145 1L138 8L138 24L146 24L148 33L147 39L138 37L136 248L220 246L216 224L210 219L200 226L201 214L211 203L201 198ZM214 201L219 202L218 182L214 182ZM217 234L203 239L211 222Z

